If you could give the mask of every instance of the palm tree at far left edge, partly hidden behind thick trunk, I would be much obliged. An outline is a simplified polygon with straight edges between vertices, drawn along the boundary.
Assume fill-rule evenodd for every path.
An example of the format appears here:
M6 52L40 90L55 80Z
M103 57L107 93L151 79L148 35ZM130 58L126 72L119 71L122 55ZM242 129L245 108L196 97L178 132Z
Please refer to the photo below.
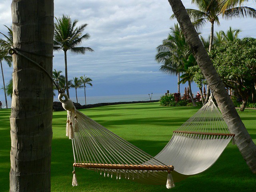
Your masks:
M6 25L5 25L6 26ZM2 60L6 61L9 67L12 66L12 56L8 53L8 50L11 48L13 44L13 35L12 35L12 29L8 28L8 35L6 36L2 32L0 34L4 35L6 39L0 39L0 64L1 64L1 71L2 71L2 77L3 77L3 85L4 85L4 97L5 97L5 103L6 103L6 109L8 109L8 103L7 103L7 96L6 96L6 87L4 82L4 71L2 66Z

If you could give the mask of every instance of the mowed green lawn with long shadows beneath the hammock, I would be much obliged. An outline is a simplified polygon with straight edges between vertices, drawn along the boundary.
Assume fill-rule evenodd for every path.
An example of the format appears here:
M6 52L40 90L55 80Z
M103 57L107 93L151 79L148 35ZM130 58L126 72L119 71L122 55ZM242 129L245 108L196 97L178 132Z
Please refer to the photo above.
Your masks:
M182 125L199 108L161 107L159 103L123 104L81 110L112 132L138 146L152 156L168 143L172 131ZM256 143L256 110L239 112ZM0 191L9 190L10 110L0 110ZM72 143L65 136L66 112L53 113L51 189L54 192L251 192L256 191L256 175L252 174L236 145L228 144L217 162L205 172L165 186L144 185L76 168L79 186L72 187Z

